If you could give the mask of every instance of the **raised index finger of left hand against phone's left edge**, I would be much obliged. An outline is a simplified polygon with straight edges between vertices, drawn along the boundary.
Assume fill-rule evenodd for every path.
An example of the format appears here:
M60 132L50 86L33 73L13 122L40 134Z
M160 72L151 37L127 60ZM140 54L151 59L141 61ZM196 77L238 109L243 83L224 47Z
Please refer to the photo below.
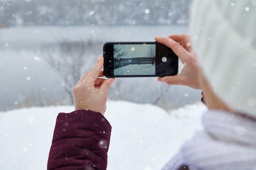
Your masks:
M96 65L92 68L92 70L86 76L86 78L88 78L88 81L90 81L90 82L96 81L96 79L98 78L98 76L101 73L103 63L104 63L103 56L99 56Z

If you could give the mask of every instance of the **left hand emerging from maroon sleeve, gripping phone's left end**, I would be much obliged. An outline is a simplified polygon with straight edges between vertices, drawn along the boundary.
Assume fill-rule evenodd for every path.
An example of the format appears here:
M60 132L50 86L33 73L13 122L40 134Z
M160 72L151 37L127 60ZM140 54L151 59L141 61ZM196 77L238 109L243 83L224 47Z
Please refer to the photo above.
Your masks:
M115 78L99 78L104 76L103 56L99 56L96 65L90 72L86 72L73 88L75 110L91 110L104 114L110 86Z

